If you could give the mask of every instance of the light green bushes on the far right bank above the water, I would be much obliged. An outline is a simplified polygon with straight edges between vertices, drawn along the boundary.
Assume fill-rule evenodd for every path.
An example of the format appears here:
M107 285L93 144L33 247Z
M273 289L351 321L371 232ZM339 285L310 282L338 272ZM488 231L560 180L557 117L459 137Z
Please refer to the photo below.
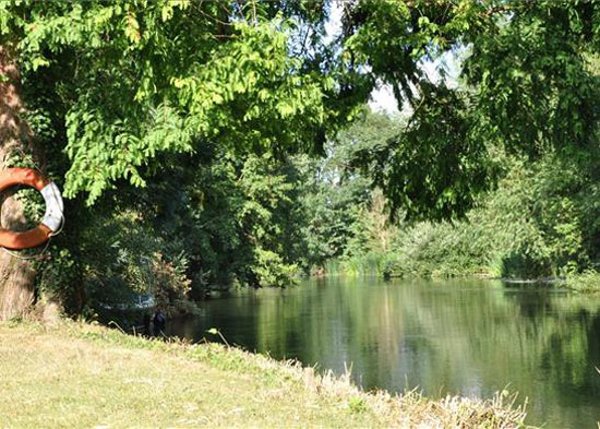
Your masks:
M400 225L391 275L539 278L590 267L599 257L600 191L589 170L557 154L506 163L497 189L465 219Z

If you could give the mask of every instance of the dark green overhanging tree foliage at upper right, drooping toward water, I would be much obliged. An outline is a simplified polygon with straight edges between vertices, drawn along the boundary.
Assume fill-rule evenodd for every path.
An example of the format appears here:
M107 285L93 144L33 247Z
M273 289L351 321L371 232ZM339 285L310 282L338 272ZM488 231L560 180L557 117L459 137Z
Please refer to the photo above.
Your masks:
M573 156L598 144L600 2L373 0L344 12L347 68L411 108L387 145L360 153L394 208L464 214L493 182L490 148ZM425 72L444 53L461 59L456 82Z

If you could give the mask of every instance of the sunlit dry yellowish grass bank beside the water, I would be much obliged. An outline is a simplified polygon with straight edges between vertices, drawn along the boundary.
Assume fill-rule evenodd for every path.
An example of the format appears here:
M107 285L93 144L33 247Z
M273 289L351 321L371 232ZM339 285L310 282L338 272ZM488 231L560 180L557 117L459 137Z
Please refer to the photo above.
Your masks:
M61 321L0 324L0 427L521 428L492 400L365 393L349 377L218 344L165 343Z

